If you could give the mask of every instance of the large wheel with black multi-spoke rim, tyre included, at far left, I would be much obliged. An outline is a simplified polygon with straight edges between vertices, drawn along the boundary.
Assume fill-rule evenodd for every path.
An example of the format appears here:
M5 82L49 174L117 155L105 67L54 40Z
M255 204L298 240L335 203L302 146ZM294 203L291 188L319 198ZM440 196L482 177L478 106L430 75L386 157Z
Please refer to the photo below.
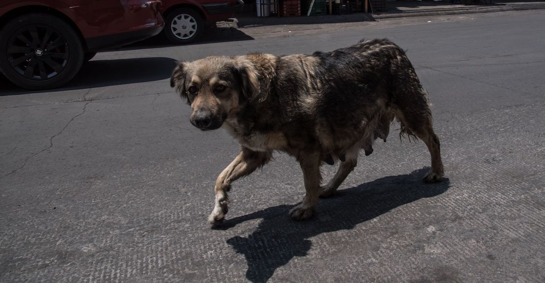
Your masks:
M22 15L0 31L4 75L26 89L60 87L83 64L83 48L72 27L48 14Z

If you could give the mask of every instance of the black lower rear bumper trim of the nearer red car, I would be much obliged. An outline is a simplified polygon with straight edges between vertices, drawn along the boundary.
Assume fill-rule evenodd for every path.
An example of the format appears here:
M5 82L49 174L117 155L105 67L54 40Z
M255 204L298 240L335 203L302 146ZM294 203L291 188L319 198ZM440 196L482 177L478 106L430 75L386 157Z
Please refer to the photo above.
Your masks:
M132 32L108 34L103 36L96 36L94 38L87 38L87 51L100 51L105 49L114 49L122 47L124 45L132 44L137 41L141 41L150 38L156 34L159 34L163 29L163 25L154 26L152 28L144 28L140 30L134 30Z

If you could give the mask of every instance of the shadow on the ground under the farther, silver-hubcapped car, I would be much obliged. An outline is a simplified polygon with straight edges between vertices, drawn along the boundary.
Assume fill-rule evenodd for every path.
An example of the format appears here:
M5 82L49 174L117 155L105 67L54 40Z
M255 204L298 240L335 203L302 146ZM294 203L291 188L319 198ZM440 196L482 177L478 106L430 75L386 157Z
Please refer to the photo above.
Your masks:
M231 42L231 41L244 41L253 40L250 35L247 35L234 27L221 27L221 28L207 28L204 30L204 34L200 39L190 44L174 45L168 41L164 34L153 36L143 41L136 42L134 44L125 46L120 50L138 50L158 47L172 47L172 46L190 46L199 44L211 44L219 42Z

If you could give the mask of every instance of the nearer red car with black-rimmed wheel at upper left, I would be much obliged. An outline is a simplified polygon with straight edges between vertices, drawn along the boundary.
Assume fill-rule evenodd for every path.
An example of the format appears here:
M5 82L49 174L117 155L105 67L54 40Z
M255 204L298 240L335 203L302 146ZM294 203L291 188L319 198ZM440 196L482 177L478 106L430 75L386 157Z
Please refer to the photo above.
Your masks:
M1 0L0 71L27 89L70 81L96 51L161 32L159 0Z

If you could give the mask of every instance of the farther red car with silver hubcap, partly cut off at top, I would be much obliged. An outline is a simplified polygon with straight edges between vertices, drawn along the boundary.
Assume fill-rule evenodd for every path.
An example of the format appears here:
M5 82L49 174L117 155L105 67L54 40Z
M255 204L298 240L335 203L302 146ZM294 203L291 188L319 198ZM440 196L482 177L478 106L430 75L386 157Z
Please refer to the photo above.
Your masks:
M244 7L242 0L162 0L165 35L175 44L196 40L204 24L225 21Z

